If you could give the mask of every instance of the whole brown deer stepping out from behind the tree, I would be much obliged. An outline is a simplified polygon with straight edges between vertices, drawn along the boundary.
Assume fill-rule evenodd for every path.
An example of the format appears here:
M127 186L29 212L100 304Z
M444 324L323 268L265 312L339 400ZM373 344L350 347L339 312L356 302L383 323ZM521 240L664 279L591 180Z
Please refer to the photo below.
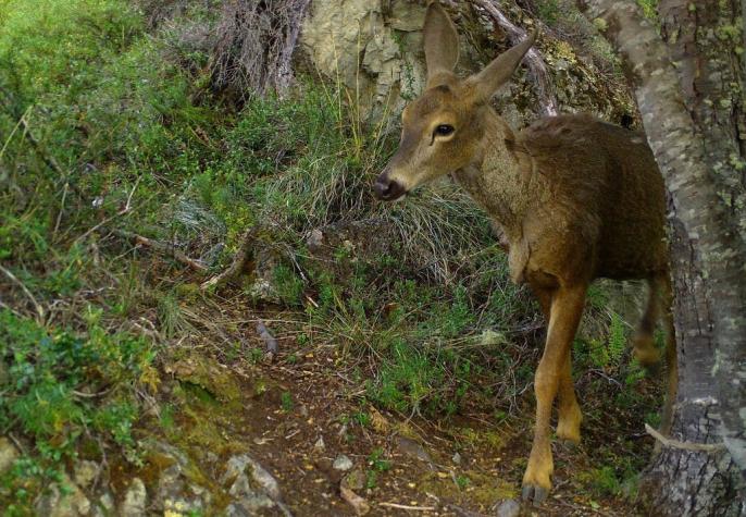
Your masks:
M594 279L647 280L648 307L634 340L635 356L645 366L658 360L652 331L658 301L664 306L664 429L676 366L663 180L644 135L582 114L543 119L514 133L489 104L535 37L461 79L453 74L456 28L443 8L431 3L424 25L426 88L405 108L399 149L376 180L374 193L395 200L452 174L502 229L512 280L529 283L548 322L534 382L534 441L523 476L523 498L540 504L551 489L549 426L556 395L557 436L572 443L581 438L570 356Z

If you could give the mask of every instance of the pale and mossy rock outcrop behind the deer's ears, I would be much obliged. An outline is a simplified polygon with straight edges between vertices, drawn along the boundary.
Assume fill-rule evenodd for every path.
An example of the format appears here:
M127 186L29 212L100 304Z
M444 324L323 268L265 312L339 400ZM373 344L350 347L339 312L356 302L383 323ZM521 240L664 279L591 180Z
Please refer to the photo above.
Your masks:
M325 76L346 91L355 113L369 121L398 113L424 86L422 50L424 1L313 0L304 20L300 47L310 72ZM469 74L481 69L511 42L488 13L473 2L446 4L460 33L458 69ZM505 10L512 23L525 28L540 25L512 2ZM634 112L623 82L609 82L587 57L543 27L537 44L560 111L587 111L617 121ZM521 70L510 91L496 100L498 110L517 127L538 116L535 81Z

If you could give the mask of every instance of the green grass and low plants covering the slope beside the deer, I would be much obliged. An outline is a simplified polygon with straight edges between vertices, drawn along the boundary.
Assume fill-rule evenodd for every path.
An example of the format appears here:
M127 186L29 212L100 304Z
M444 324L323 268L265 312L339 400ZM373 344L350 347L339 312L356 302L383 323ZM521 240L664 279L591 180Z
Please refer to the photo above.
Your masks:
M184 20L207 20L201 9ZM0 275L0 427L24 445L0 504L30 514L77 457L107 451L137 464L142 401L186 337L217 343L212 354L227 364L263 359L260 348L224 344L226 329L200 316L225 303L220 294L199 292L202 279L115 230L217 271L259 229L253 262L268 270L274 310L301 322L281 359L293 367L314 347L334 349L361 427L371 404L435 419L520 416L542 320L509 282L485 216L448 181L406 204L374 202L369 187L395 128L366 126L348 93L303 77L282 100L249 97L237 109L213 96L209 56L179 34L178 21L148 32L122 0L0 0L0 260L17 279ZM355 221L377 226L321 255L309 249L312 231L335 235ZM243 279L240 304L254 276ZM594 331L579 338L577 371L632 385L641 371L607 294L590 297ZM587 393L607 384L580 382ZM629 408L649 399L613 397ZM592 398L590 419L607 398ZM294 406L283 392L279 407ZM161 408L166 433L174 413ZM369 458L369 484L390 467L382 454Z

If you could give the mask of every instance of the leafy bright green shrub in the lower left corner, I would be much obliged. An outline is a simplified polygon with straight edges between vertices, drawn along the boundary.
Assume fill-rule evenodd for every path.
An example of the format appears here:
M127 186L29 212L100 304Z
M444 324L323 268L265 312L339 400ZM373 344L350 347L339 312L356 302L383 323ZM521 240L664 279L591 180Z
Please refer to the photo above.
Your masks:
M0 357L11 359L0 377L0 433L17 430L34 442L34 454L23 455L0 478L0 502L13 502L3 504L11 514L47 483L61 480L65 461L79 450L99 458L113 444L139 461L135 390L158 385L152 346L142 337L109 332L100 309L86 307L85 319L87 331L80 335L0 310Z

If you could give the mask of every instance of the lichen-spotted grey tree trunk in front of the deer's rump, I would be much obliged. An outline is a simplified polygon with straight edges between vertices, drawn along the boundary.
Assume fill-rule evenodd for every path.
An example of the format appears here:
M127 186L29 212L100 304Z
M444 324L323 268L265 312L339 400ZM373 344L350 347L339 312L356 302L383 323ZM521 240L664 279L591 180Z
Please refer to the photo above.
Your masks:
M745 515L742 7L663 0L664 42L634 2L580 3L622 54L670 194L680 364L671 434L684 445L663 445L644 493L652 515Z

